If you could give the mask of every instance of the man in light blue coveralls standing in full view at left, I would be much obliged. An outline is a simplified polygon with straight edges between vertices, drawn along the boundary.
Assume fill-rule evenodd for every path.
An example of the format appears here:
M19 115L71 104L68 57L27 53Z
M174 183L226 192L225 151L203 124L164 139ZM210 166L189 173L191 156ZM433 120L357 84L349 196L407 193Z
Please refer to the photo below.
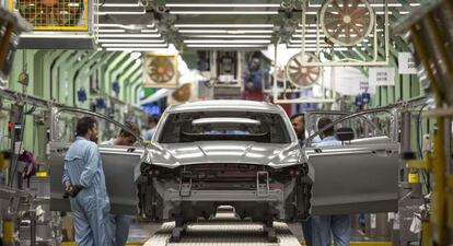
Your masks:
M101 154L93 141L96 120L83 117L77 122L77 138L65 156L62 183L70 194L78 246L109 245L109 201Z

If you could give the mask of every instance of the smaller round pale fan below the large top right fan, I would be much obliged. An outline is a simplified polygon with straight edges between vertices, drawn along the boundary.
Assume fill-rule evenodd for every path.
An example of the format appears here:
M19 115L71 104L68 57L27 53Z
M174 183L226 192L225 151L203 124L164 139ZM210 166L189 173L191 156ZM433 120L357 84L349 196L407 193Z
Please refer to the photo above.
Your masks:
M320 60L313 54L305 54L303 58L300 52L292 56L287 63L287 79L299 87L312 86L320 79L321 67L303 66L310 62L320 62Z

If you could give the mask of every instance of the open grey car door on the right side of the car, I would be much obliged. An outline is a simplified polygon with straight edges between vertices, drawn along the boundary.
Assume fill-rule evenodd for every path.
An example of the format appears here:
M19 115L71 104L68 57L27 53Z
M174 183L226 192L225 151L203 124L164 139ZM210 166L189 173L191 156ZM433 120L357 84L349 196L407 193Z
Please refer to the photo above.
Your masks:
M314 168L312 214L397 210L398 143L306 149Z

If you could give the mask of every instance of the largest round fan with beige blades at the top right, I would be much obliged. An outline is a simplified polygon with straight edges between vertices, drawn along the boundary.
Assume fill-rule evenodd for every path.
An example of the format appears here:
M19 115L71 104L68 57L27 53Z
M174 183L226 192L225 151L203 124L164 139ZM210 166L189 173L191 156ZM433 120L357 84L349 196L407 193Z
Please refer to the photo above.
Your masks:
M373 30L374 13L367 0L326 0L320 11L320 21L330 42L353 46Z

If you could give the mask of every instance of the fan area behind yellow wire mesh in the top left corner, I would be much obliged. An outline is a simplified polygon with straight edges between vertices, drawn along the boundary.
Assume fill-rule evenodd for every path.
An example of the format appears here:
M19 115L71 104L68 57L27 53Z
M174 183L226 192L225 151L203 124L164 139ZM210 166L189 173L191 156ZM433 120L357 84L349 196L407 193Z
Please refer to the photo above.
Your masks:
M22 17L39 26L78 26L85 5L83 0L18 0L16 9Z

